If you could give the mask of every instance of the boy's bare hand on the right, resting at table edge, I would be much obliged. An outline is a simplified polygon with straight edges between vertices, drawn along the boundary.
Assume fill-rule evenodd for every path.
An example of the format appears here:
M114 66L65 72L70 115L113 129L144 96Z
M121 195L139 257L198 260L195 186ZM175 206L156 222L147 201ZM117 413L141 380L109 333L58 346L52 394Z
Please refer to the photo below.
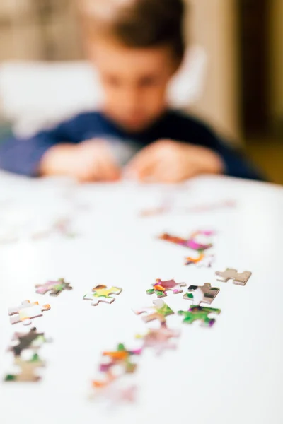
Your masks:
M180 182L200 174L220 174L224 164L209 148L160 140L137 153L127 175L145 182Z

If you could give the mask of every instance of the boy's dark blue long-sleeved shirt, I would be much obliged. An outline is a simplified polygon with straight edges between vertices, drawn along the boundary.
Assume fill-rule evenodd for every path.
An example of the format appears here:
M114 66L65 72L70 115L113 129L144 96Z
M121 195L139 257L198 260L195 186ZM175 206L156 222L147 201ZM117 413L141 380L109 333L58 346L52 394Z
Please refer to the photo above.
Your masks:
M212 129L187 115L168 110L152 126L139 133L129 133L102 112L86 112L62 122L53 129L41 131L28 139L11 138L0 145L0 167L21 175L36 177L45 152L59 143L81 143L103 138L112 143L122 141L142 148L158 139L172 139L211 148L219 153L225 174L231 177L263 179L243 154L227 146Z

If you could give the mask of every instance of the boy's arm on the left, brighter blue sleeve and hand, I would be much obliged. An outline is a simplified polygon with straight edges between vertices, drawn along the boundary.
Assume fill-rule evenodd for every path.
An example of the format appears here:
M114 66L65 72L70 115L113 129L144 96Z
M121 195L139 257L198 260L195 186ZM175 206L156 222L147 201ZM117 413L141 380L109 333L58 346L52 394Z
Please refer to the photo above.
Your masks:
M80 181L119 178L120 170L105 143L83 141L87 134L82 134L78 119L29 139L7 140L0 146L0 167L30 177L67 175Z

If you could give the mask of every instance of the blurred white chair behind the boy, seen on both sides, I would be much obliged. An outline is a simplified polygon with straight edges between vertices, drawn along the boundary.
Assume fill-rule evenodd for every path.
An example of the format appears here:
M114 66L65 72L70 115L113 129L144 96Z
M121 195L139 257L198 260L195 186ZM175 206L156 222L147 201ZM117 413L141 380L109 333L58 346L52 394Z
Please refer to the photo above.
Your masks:
M202 94L207 55L191 47L168 88L168 103L187 108ZM86 61L10 61L0 64L0 114L18 136L96 110L102 93L95 69Z

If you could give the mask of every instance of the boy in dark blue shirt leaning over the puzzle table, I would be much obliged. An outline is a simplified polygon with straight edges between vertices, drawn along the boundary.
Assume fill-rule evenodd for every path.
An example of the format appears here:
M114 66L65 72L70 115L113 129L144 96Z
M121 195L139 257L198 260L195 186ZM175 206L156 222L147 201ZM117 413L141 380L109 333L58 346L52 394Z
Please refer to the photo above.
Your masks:
M88 57L104 90L101 111L7 141L0 167L29 176L115 181L122 175L115 160L122 141L126 157L133 156L125 173L140 181L223 173L260 179L207 126L166 105L168 82L185 51L182 0L81 0L80 10Z

